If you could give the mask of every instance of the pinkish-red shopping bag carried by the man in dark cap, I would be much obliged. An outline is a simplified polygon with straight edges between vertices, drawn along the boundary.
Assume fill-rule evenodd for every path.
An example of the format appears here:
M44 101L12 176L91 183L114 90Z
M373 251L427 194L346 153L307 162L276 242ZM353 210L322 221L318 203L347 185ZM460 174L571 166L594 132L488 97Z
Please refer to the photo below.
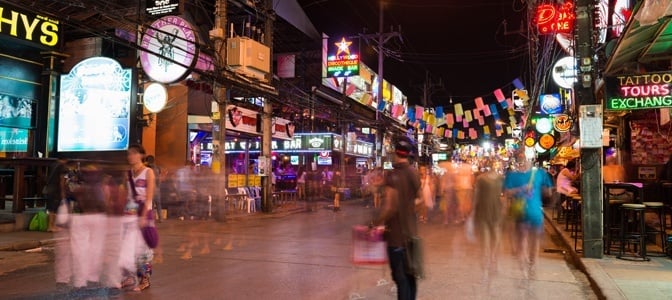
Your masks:
M383 240L385 227L369 228L364 225L352 227L352 262L354 264L384 264L387 262L387 246Z

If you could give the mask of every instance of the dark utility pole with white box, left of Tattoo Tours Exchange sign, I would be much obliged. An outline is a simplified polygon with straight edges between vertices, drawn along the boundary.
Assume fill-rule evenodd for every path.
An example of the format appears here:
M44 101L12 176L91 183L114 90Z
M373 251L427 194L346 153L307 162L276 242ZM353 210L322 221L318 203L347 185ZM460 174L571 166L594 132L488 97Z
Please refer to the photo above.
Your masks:
M575 95L576 103L580 105L599 104L594 94L594 2L593 0L576 1L576 65L579 66L579 78L575 84ZM588 258L602 258L603 253L601 153L601 148L581 148L583 256Z

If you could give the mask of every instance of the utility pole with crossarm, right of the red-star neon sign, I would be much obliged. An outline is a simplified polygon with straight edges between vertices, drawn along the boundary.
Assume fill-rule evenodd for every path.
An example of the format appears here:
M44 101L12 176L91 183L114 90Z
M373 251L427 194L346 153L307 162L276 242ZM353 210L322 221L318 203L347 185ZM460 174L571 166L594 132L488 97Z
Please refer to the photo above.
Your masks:
M380 101L383 101L383 62L385 60L385 43L387 43L391 38L398 37L401 39L401 33L398 31L390 31L390 32L383 32L383 8L384 8L384 1L380 0L379 2L379 8L380 8L380 13L378 16L378 33L374 34L360 34L360 37L364 39L375 39L378 43L377 45L377 51L378 51L378 98L376 99L376 103L380 105ZM382 165L382 129L384 126L382 126L381 123L381 118L380 118L380 111L378 110L378 107L376 107L376 142L373 144L373 151L375 153L375 159L376 159L376 166L380 167Z

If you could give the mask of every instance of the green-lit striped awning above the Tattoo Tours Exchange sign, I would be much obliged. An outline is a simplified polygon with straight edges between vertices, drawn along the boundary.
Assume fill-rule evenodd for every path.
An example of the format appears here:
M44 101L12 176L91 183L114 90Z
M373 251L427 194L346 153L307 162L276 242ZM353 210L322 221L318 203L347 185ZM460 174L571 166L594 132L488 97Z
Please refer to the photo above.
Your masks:
M662 69L669 66L672 59L672 16L669 10L652 7L647 2L653 1L641 1L633 11L633 17L607 61L605 75L633 73L638 64L663 62L666 65ZM669 5L670 1L662 2Z

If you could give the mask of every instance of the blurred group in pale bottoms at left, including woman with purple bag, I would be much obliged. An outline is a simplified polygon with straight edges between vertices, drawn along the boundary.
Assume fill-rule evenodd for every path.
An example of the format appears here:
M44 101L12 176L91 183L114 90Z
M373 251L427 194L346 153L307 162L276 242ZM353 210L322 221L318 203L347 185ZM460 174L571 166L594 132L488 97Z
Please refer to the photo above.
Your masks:
M50 230L59 241L54 250L60 288L150 286L158 240L148 241L143 232L155 220L157 177L145 159L144 148L132 145L127 166L91 163L73 169L60 159L51 168L46 192L55 212Z

